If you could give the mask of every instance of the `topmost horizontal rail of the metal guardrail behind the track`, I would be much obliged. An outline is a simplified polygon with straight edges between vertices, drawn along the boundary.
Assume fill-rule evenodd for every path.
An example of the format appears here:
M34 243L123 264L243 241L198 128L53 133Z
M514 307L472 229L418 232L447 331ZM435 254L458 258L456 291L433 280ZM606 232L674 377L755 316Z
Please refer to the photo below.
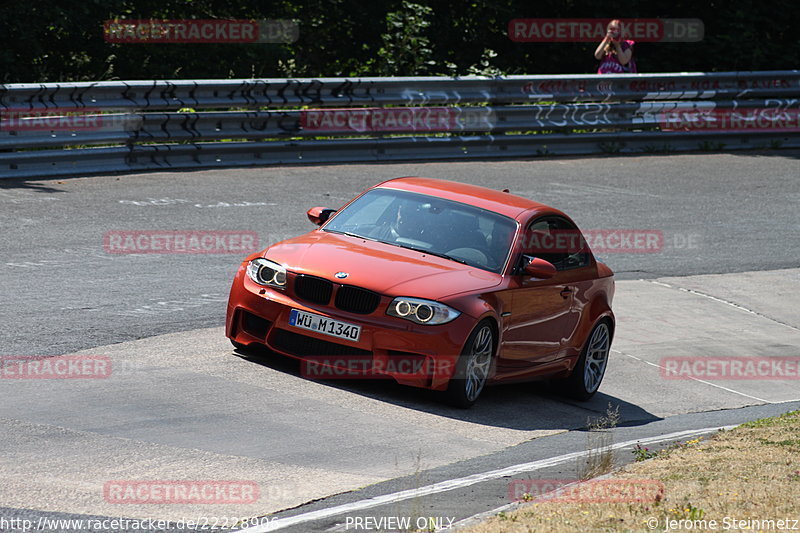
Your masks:
M508 104L797 95L800 71L680 74L314 78L27 83L0 86L0 108Z

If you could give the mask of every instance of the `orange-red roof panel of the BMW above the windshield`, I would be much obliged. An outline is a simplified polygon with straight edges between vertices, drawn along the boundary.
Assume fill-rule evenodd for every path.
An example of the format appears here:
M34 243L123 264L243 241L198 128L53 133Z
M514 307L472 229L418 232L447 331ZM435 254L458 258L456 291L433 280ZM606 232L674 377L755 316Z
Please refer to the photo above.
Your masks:
M515 194L470 185L457 181L440 180L434 178L405 177L395 178L375 185L374 188L399 189L416 192L453 200L464 204L474 205L489 211L494 211L511 218L518 218L528 211L542 211L552 214L562 214L557 209L548 205L528 200Z

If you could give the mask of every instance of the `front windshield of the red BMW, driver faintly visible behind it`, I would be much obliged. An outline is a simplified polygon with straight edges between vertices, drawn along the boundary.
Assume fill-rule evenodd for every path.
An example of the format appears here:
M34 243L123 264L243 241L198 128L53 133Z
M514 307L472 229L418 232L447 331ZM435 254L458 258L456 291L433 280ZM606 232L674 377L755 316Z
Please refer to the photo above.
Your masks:
M451 200L378 188L337 213L323 230L402 246L500 273L516 222Z

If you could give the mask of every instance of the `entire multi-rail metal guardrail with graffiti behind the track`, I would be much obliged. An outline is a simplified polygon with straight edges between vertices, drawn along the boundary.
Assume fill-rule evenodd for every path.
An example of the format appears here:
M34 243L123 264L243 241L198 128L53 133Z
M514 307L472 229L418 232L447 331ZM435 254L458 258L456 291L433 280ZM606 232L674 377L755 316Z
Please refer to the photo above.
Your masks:
M799 108L798 70L13 84L0 177L798 147Z

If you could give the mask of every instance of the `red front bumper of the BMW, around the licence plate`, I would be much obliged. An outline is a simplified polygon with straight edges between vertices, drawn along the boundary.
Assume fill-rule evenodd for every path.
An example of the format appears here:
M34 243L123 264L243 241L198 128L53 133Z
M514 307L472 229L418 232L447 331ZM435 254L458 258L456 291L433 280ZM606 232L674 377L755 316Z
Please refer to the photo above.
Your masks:
M474 319L462 313L447 324L417 325L387 316L390 301L382 297L377 310L368 315L349 313L301 300L290 289L257 285L240 268L231 287L225 331L237 343L260 343L283 355L312 361L315 368L338 367L336 372L316 374L321 378L389 377L404 385L446 389ZM359 340L292 326L292 309L356 324L361 327ZM341 371L343 364L347 372ZM303 366L304 373L308 368L312 367Z

